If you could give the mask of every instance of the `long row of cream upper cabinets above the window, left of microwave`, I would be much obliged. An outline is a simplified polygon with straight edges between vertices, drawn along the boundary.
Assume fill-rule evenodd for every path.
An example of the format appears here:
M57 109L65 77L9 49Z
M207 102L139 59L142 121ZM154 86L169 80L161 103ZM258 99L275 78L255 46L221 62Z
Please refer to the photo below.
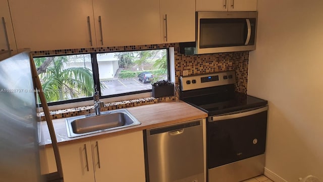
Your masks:
M7 1L0 3L4 4L0 10L8 21L11 49L45 51L195 41L195 0L9 0L12 18ZM3 29L0 33L4 34ZM5 36L0 37L4 49Z

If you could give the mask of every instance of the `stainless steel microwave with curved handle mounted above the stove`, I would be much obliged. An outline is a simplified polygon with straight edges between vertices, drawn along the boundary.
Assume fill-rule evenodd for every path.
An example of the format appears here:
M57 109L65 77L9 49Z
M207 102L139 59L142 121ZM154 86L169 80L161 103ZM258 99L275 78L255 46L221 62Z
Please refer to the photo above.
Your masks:
M182 54L256 49L258 12L196 12L196 41L180 43Z

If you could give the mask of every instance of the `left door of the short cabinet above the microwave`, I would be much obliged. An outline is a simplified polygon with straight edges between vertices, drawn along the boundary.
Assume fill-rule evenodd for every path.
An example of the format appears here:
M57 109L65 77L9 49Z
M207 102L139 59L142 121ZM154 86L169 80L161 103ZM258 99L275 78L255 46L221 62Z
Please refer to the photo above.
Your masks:
M232 0L196 0L196 11L228 11L228 1Z

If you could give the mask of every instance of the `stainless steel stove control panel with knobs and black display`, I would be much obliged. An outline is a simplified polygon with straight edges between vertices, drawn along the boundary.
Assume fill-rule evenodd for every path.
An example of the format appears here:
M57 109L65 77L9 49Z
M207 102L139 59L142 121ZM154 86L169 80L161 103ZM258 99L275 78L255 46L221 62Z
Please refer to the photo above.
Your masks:
M234 70L181 76L180 80L182 91L236 83Z

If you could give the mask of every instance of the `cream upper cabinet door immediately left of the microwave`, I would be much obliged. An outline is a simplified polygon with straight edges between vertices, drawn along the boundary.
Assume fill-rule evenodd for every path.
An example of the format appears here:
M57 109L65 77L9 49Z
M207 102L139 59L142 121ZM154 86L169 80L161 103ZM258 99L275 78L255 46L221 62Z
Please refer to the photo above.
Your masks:
M195 0L160 0L160 18L162 42L195 41Z

